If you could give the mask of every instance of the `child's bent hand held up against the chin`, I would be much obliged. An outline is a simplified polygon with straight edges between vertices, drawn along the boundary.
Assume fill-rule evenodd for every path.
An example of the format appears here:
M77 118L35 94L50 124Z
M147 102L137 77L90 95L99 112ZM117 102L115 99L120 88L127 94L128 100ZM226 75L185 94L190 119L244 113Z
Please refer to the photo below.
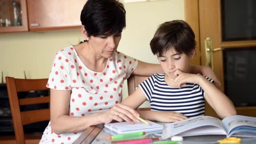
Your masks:
M174 79L174 82L179 85L179 87L183 87L186 83L195 83L198 84L202 75L189 74L184 73L181 70L177 69L174 73L177 77Z

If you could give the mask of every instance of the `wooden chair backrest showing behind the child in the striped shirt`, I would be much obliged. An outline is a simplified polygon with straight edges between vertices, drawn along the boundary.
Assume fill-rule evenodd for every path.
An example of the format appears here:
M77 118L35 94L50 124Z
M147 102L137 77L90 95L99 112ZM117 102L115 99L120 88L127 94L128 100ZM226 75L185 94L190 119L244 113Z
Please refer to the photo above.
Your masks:
M139 84L142 83L147 78L148 77L146 77L146 76L131 75L127 79L128 95L130 96L136 90L136 88L139 87ZM149 108L138 108L138 110L150 110L150 107Z

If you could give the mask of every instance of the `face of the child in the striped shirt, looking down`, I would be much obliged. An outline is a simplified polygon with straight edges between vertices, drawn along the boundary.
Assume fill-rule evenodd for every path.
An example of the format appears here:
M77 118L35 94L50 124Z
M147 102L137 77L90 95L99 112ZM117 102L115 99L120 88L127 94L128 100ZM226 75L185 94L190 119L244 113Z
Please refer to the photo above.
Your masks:
M188 72L189 59L192 59L192 56L187 56L185 53L177 53L174 48L170 48L166 53L163 53L163 56L158 56L158 60L165 75L174 79L176 77L174 72L177 69L185 73Z

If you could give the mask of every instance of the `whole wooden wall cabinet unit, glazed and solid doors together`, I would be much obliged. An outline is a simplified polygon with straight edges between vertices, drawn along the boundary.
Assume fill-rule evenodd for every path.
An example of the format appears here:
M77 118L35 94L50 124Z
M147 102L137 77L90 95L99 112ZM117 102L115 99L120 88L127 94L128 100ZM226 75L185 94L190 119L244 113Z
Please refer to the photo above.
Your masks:
M13 21L12 1L0 0L0 19ZM80 28L80 13L86 1L15 0L20 5L22 25L0 27L0 33Z

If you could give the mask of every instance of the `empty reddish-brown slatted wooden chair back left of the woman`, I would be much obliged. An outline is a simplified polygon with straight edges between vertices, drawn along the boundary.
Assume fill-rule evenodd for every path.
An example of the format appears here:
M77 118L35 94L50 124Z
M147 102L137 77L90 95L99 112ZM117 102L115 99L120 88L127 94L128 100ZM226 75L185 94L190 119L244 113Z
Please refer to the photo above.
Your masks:
M37 109L21 112L20 106L49 103L50 96L19 99L18 92L49 90L49 88L46 87L48 79L16 79L13 77L6 77L5 79L16 143L25 144L23 125L50 120L50 109Z

